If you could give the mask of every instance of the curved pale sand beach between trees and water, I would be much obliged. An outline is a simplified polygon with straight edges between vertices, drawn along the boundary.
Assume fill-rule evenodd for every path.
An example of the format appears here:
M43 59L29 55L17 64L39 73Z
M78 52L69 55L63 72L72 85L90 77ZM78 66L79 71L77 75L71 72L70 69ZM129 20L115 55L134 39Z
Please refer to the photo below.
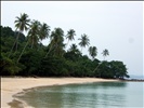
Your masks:
M62 85L71 83L89 83L89 82L108 82L118 80L106 80L97 78L1 78L1 108L12 108L15 103L18 103L18 108L31 108L24 102L19 102L14 97L15 94L23 92L26 89L45 86L45 85ZM13 102L13 103L12 103ZM11 105L11 106L10 106Z

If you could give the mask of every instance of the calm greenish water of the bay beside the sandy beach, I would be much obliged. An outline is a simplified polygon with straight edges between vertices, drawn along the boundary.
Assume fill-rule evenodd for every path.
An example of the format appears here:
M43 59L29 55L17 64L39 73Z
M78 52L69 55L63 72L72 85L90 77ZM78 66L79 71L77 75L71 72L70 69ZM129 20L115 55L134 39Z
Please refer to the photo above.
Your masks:
M18 98L36 108L144 108L144 82L101 82L32 89Z

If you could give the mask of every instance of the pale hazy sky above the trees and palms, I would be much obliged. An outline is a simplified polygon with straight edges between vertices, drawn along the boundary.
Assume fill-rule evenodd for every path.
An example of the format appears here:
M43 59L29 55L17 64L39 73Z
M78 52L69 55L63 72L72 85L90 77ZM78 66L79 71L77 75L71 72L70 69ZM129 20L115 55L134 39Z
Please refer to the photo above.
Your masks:
M102 52L107 49L108 62L121 60L129 75L144 76L143 1L1 1L2 26L15 30L14 21L21 13L47 23L51 30L61 27L65 35L75 29L75 41L69 45L78 45L81 35L88 35L90 46L97 48L96 58L103 60ZM49 44L49 39L42 43ZM89 55L88 46L82 53Z

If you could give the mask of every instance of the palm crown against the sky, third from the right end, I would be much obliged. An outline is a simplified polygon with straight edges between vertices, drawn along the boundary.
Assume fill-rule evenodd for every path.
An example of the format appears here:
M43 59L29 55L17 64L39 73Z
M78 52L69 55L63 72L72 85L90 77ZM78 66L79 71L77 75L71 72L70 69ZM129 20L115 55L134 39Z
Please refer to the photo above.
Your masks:
M81 35L81 38L78 39L78 40L81 40L79 42L79 45L81 46L81 52L82 52L82 48L86 48L86 45L89 45L90 44L90 40L88 38L88 36L86 33Z

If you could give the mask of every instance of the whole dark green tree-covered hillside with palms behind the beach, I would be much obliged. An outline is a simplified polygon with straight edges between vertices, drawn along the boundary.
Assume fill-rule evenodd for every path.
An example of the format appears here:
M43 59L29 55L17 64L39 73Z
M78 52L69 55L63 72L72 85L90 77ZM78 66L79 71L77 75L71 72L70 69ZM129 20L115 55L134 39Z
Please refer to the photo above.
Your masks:
M60 27L51 31L50 26L39 21L31 21L27 14L21 14L15 21L16 30L10 27L1 28L0 76L38 76L38 77L96 77L120 78L128 76L122 62L105 60L108 50L103 51L104 60L99 60L97 48L90 46L88 55L82 49L90 45L89 37L83 33L79 44L69 44L75 40L76 31L69 29L67 33ZM23 31L27 30L27 35ZM50 40L43 45L43 39ZM67 43L64 40L67 39ZM81 46L81 51L78 49Z

